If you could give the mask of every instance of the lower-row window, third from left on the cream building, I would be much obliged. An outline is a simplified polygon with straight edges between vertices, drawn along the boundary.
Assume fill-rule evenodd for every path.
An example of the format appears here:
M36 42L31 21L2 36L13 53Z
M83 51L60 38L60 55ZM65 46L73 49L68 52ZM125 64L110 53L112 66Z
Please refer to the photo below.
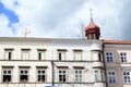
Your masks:
M37 82L46 82L46 70L44 69L37 70Z

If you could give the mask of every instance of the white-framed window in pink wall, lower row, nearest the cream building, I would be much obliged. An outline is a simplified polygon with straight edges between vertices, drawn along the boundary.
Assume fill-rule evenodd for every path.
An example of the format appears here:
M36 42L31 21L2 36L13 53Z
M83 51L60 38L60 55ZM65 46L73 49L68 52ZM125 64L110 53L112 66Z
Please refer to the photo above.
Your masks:
M108 75L107 80L108 80L109 84L116 84L117 83L116 72L109 71L109 72L107 72L107 75Z

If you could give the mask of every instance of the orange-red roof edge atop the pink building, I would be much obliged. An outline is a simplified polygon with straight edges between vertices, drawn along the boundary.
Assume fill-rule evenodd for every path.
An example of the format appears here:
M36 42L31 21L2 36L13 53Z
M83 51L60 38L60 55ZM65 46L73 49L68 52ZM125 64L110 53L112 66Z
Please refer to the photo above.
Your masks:
M126 40L104 40L106 45L131 45L131 41Z

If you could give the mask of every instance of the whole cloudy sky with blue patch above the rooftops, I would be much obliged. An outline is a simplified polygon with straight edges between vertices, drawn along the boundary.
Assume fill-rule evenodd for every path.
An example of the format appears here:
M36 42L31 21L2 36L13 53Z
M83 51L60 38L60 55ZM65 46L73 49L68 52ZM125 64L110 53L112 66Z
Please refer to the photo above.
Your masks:
M90 9L103 39L131 40L131 0L0 0L0 37L81 39Z

